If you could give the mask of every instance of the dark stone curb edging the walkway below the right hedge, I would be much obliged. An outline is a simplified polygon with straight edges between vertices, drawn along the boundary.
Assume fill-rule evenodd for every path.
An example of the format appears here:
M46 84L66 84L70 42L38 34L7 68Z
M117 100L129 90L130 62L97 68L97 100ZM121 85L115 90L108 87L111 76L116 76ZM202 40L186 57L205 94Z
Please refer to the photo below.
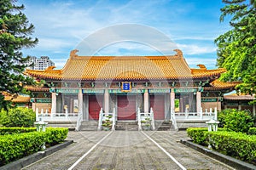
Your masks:
M242 169L242 170L256 169L256 166L254 166L253 164L247 163L245 161L240 161L240 160L235 159L230 156L225 156L224 154L220 154L214 150L208 150L207 148L205 148L204 146L201 146L200 144L194 144L191 140L181 139L180 142L182 144L189 146L190 148L192 148L194 150L200 151L201 153L203 153L207 156L211 156L212 158L214 158L218 161L222 161L225 164L229 165L230 167L234 167L236 169Z

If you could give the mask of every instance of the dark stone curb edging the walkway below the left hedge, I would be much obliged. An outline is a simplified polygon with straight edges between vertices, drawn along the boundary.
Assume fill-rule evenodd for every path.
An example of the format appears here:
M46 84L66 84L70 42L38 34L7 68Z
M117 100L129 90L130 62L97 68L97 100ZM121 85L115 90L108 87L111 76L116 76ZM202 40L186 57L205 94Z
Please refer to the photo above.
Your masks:
M3 167L0 167L0 170L21 169L32 164L35 161L44 158L45 156L49 156L50 154L67 147L67 145L69 144L73 144L73 140L66 140L63 143L56 144L55 146L52 146L44 151L38 151L37 153L34 153L30 156L23 157L17 161L12 161L9 164L4 165Z

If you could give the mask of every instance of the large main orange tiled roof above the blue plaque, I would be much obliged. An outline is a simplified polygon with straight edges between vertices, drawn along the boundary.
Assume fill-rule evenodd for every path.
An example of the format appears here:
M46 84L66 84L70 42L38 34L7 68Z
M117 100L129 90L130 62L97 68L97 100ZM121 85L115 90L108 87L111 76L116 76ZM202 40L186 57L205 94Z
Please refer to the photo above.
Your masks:
M224 69L190 69L180 50L172 56L78 56L73 50L61 70L26 70L33 77L54 80L160 80L220 75Z

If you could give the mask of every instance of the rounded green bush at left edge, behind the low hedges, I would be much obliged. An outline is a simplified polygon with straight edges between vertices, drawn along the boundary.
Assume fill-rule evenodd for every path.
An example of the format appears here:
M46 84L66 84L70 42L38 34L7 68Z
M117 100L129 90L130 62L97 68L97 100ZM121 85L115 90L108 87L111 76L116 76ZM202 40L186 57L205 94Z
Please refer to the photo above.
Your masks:
M33 127L36 113L32 109L15 108L0 112L0 123L4 127Z

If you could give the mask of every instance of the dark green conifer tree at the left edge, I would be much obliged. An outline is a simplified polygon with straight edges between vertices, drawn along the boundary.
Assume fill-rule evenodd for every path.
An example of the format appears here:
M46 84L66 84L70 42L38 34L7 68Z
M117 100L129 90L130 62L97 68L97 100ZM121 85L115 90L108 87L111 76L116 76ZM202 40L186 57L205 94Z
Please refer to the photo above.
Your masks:
M34 47L38 38L29 37L34 26L21 13L24 8L15 0L0 1L0 110L7 109L2 92L19 94L32 84L32 78L22 74L29 57L23 57L21 49Z

